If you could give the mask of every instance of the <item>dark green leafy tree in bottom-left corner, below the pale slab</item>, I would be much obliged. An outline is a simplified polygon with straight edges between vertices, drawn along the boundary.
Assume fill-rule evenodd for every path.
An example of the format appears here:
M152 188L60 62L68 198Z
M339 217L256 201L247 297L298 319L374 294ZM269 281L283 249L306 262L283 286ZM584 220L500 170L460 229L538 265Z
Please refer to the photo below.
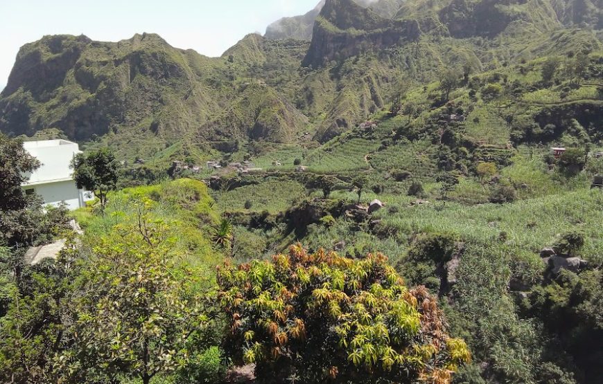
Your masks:
M70 240L55 261L31 266L26 282L11 290L0 320L0 382L56 383L53 360L66 345L64 316L78 275Z

